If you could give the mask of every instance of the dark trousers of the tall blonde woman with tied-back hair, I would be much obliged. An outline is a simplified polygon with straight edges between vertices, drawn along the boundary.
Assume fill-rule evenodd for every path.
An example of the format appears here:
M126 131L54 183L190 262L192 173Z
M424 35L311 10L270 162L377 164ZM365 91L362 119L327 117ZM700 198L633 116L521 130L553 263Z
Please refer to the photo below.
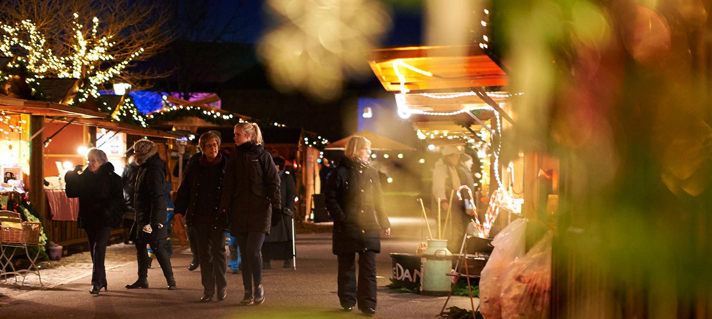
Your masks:
M236 234L242 257L242 283L246 292L262 284L262 243L267 234L261 231Z

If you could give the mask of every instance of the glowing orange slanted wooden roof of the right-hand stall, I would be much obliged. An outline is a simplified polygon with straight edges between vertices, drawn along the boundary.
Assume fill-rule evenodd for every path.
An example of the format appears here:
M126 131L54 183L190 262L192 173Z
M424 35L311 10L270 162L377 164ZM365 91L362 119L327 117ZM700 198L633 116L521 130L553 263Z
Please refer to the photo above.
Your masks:
M401 80L408 90L508 85L504 70L473 45L379 48L371 52L369 64L383 87L391 92L401 90Z

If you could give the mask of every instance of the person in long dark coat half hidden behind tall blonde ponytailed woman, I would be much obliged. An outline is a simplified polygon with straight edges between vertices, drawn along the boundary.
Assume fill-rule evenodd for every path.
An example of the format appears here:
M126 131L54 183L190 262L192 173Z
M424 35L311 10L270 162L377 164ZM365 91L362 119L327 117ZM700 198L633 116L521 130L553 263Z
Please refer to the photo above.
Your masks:
M282 267L290 268L294 244L292 219L294 218L294 198L297 197L297 191L294 179L289 172L284 170L284 159L273 157L272 160L281 181L279 190L282 197L283 214L282 218L277 220L277 224L271 227L269 235L265 237L265 242L262 244L262 268L271 268L271 260L284 261Z

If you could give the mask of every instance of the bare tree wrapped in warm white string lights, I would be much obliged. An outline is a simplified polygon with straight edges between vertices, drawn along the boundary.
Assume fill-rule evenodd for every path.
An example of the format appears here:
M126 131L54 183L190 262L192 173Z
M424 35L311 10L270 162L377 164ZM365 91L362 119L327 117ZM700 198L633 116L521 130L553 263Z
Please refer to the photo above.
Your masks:
M132 70L164 50L172 37L162 1L0 2L0 51L38 78L80 79L78 102L110 80L142 88L164 74Z

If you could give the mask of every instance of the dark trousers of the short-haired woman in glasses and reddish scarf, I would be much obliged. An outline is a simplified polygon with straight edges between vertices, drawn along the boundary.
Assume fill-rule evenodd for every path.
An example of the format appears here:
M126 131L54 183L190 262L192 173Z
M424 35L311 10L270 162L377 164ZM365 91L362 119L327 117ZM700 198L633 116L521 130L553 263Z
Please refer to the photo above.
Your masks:
M193 224L190 228L195 231L197 240L203 293L212 296L216 287L219 291L227 287L226 231L215 229L209 224Z

